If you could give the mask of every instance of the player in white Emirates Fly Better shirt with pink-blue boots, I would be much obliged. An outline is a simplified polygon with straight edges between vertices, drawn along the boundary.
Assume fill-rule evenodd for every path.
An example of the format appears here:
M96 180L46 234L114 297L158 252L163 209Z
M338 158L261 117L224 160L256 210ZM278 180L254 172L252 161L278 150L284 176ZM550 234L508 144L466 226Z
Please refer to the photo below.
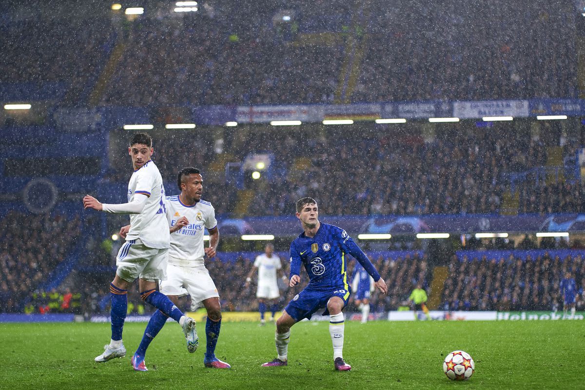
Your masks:
M208 368L230 368L215 357L215 346L221 329L221 305L218 290L205 268L204 258L215 257L219 243L219 229L215 219L215 209L211 203L201 199L203 178L197 168L183 168L177 176L179 195L167 196L166 217L171 233L171 247L168 251L167 279L160 282L160 292L177 304L178 297L191 296L191 310L203 305L207 310L205 334L207 351L204 365ZM120 231L123 236L129 226ZM204 231L209 231L209 247L204 246ZM167 316L159 310L150 318L140 346L133 357L137 371L147 371L144 364L146 349L163 329ZM197 332L195 332L197 334ZM195 342L197 348L199 341Z

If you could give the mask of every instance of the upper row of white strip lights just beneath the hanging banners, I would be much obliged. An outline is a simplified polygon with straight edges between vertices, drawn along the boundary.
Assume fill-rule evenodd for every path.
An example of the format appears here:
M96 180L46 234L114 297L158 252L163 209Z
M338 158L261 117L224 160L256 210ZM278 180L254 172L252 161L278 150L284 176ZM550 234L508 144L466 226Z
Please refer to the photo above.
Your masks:
M497 122L505 120L514 120L512 116L484 116L481 118L484 122ZM566 115L538 115L538 120L559 120L567 119ZM429 118L431 123L446 123L446 122L459 122L459 118ZM376 119L376 123L406 123L404 118L386 118ZM353 125L353 119L325 119L321 123L324 125ZM300 126L302 122L300 120L273 120L270 122L270 126ZM226 122L225 126L235 127L238 126L238 122ZM153 129L153 125L124 125L125 130L150 130ZM176 125L166 125L166 129L193 129L194 123L178 123Z

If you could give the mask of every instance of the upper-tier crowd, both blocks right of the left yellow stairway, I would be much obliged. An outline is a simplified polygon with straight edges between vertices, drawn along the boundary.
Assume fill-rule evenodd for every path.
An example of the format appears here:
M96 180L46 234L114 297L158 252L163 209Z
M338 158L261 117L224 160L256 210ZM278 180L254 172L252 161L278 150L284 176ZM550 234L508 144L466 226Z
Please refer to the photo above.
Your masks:
M274 6L236 22L221 7L190 22L144 19L102 104L329 103L347 84L347 58L359 78L339 98L352 102L576 98L574 11L540 2L380 2L343 18L297 4L284 24ZM323 26L335 38L316 36Z

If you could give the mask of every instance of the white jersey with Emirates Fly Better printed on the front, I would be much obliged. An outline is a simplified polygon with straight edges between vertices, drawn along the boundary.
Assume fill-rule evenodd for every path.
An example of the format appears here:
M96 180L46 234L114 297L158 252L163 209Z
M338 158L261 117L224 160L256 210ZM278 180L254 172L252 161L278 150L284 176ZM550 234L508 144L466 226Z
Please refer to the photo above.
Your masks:
M196 267L203 263L205 249L203 236L205 228L213 229L218 225L215 209L211 203L199 201L192 206L184 205L178 195L167 196L166 210L168 226L174 226L181 217L187 218L189 225L171 233L171 247L168 250L168 264Z

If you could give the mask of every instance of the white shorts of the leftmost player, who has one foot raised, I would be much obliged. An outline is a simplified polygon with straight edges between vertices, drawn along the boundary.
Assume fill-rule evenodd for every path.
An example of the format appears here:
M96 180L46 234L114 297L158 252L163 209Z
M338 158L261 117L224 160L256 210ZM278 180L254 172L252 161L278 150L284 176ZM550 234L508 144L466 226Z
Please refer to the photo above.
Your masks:
M149 248L139 239L126 241L116 257L116 275L130 283L136 278L153 282L164 280L167 275L167 252L168 248Z

